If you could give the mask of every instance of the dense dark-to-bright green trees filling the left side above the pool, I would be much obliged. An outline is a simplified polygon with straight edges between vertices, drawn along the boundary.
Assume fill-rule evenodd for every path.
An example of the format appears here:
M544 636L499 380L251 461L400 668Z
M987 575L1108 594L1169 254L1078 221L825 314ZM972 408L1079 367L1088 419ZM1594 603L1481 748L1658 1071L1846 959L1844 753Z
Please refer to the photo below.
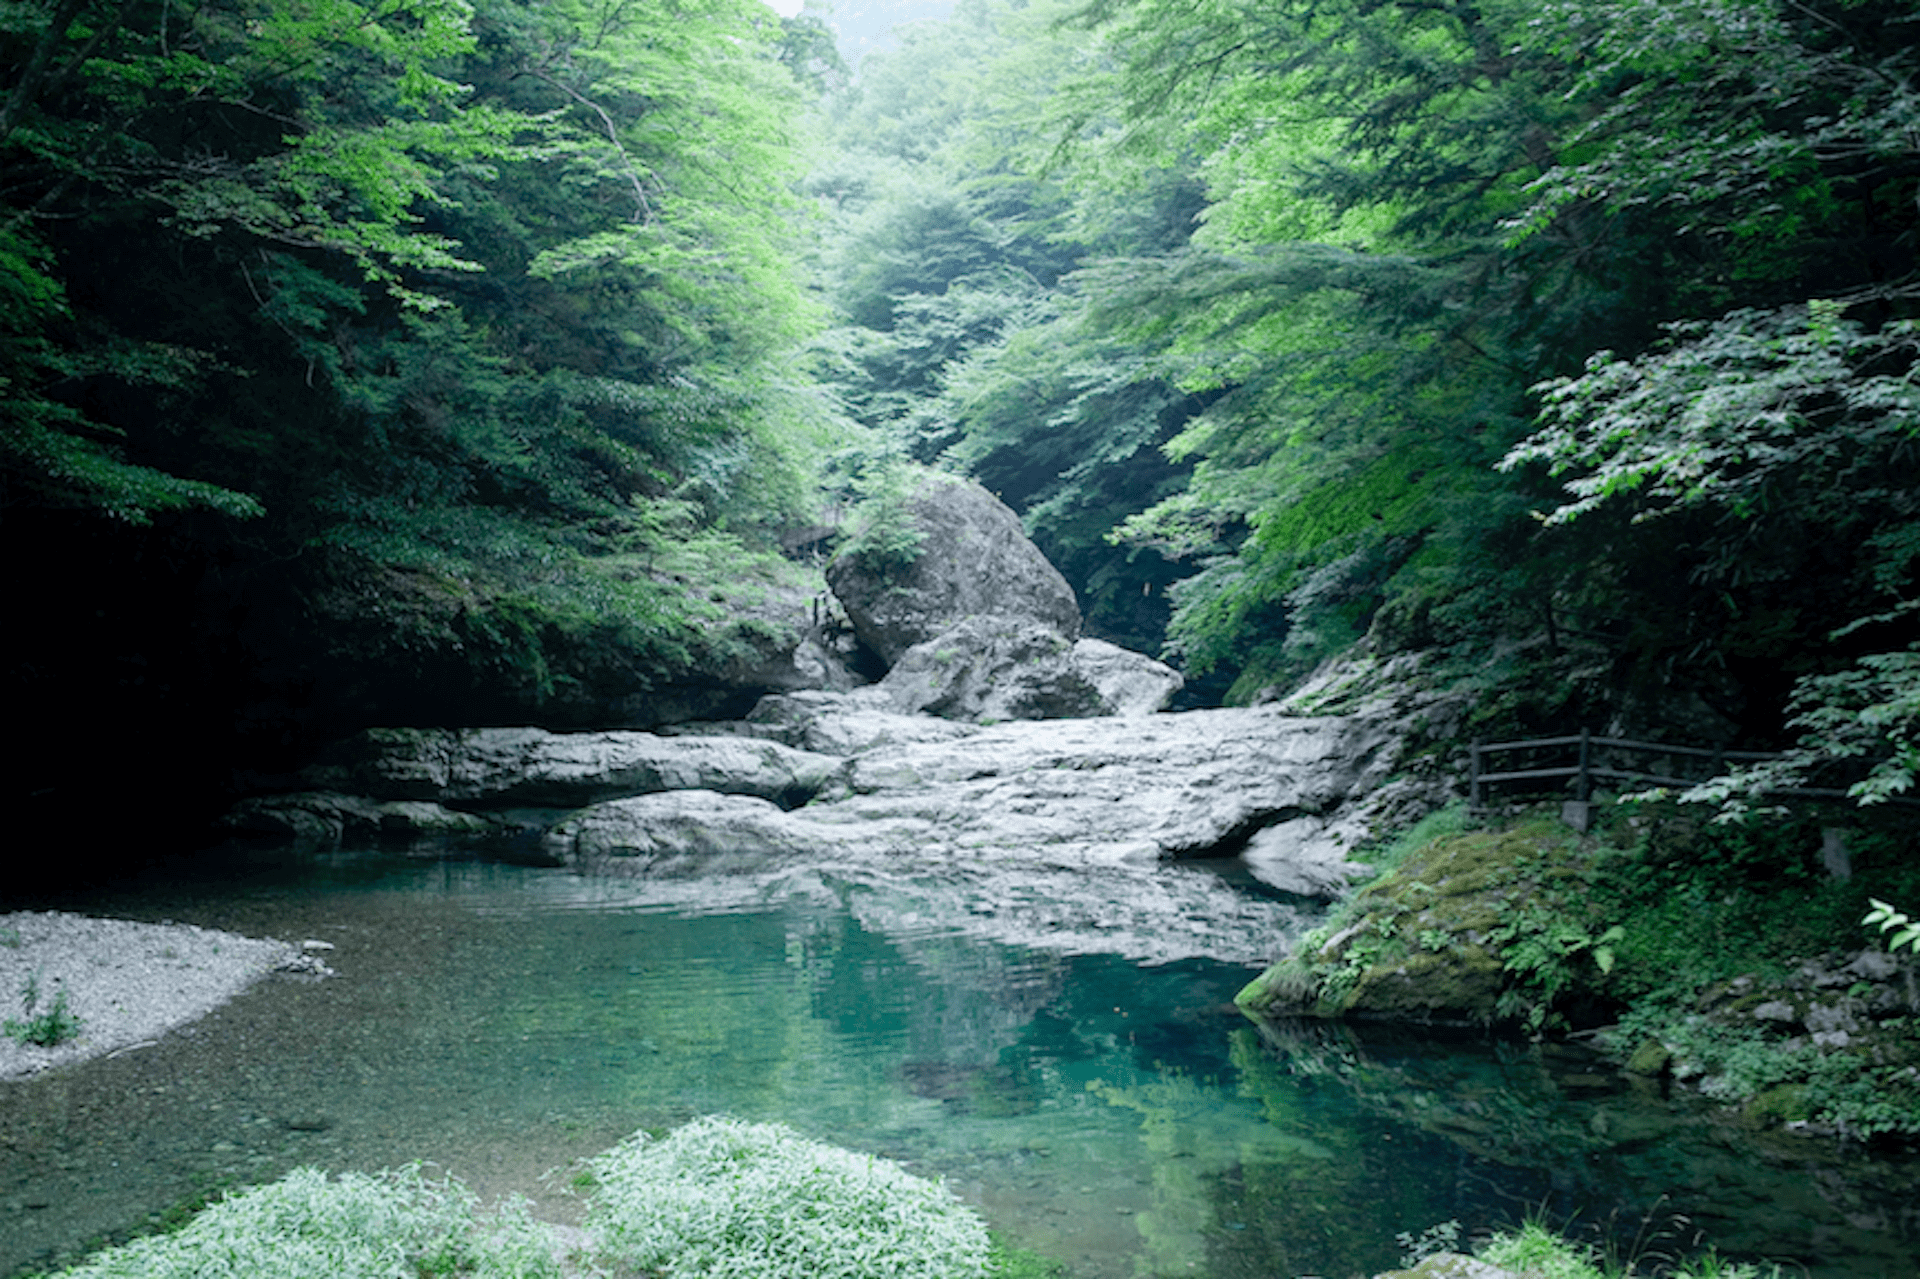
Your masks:
M8 6L25 705L184 724L217 784L369 718L676 718L791 638L770 551L833 428L791 365L820 35L755 0Z

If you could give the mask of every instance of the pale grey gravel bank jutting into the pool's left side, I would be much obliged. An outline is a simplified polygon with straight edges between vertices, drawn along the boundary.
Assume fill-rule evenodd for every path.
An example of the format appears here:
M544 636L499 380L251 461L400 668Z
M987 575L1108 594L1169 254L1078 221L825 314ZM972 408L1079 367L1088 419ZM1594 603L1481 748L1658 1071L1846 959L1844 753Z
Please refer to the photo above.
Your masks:
M84 914L0 914L0 1020L25 1022L67 997L79 1039L42 1049L0 1035L0 1079L148 1047L175 1026L221 1006L269 972L324 976L286 941L240 937L192 924L132 924Z

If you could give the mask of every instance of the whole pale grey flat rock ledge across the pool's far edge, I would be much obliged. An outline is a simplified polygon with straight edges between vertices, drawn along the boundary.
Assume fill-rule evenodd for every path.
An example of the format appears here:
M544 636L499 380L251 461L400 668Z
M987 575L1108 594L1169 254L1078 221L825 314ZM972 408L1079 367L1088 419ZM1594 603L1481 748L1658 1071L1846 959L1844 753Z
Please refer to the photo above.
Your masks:
M507 837L588 874L785 872L803 862L1092 870L1238 858L1294 899L1338 899L1400 759L1390 718L1273 707L964 724L883 688L766 697L685 734L369 730L309 787L228 830Z

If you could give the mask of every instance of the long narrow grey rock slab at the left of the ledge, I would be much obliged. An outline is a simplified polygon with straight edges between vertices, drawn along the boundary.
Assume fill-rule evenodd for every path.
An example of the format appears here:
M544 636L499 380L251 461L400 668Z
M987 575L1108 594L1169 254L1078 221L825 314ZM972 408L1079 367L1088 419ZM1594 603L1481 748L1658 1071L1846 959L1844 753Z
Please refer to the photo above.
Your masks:
M599 799L707 789L804 803L839 760L753 737L541 728L371 728L303 774L313 789L447 805L576 808Z

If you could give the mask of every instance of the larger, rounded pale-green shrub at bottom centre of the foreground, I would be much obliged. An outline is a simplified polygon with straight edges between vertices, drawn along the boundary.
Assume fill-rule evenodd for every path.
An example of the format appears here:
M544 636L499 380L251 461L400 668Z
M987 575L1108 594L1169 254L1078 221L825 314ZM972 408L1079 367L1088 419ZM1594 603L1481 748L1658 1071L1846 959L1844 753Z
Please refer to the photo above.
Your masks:
M705 1118L591 1164L603 1254L664 1279L979 1279L987 1227L945 1187L778 1123Z

